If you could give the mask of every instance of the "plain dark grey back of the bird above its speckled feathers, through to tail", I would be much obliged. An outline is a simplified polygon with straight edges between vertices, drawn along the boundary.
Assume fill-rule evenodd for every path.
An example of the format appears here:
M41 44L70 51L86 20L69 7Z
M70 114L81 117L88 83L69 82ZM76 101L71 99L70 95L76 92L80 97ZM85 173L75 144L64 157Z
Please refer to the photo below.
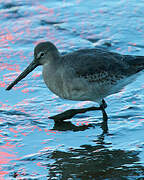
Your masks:
M143 56L121 55L105 49L84 49L62 57L63 63L78 76L107 74L108 76L131 76L144 69Z

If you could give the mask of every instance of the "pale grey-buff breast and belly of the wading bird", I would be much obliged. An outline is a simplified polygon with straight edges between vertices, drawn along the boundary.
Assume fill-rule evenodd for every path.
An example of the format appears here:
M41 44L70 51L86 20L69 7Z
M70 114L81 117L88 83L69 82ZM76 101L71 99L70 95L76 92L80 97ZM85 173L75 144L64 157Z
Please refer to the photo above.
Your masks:
M57 96L69 100L87 100L87 85L79 78L74 78L63 67L54 69L43 66L43 79L47 87Z

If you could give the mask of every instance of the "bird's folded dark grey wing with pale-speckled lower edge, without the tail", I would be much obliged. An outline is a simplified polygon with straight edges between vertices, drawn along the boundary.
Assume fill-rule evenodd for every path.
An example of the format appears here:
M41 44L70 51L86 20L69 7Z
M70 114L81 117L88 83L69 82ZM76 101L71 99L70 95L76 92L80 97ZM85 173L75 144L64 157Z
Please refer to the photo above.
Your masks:
M69 53L63 57L76 76L89 82L102 82L109 79L122 79L132 74L125 55L104 49L87 49Z

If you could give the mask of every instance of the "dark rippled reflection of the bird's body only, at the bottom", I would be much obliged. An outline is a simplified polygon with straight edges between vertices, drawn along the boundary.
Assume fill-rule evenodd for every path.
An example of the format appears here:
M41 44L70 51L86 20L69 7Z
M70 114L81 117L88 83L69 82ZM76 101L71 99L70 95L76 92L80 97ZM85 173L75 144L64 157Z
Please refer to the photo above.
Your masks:
M48 178L101 180L144 177L144 167L138 161L138 152L109 150L98 140L96 146L82 145L68 152L54 151L46 164ZM49 161L49 157L47 157ZM131 178L130 178L131 179Z

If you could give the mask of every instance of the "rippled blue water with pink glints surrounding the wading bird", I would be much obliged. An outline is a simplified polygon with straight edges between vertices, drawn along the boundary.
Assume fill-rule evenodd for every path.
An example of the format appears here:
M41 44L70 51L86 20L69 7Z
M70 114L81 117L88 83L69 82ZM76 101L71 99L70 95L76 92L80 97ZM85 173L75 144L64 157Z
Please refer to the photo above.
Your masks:
M100 112L62 127L48 119L94 103L61 100L46 88L41 68L5 91L45 40L61 53L103 46L144 55L144 1L0 1L0 179L144 179L143 73L106 98L105 135Z

